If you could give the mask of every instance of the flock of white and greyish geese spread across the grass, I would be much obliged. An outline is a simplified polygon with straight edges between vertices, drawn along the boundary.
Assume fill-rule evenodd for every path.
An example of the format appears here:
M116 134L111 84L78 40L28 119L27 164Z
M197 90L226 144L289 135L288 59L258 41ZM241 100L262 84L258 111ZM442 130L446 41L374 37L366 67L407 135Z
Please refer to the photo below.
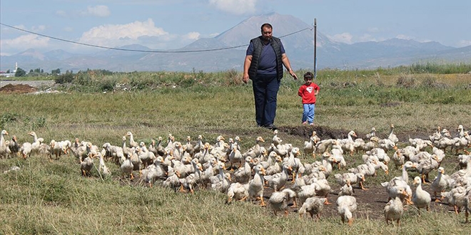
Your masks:
M353 185L367 190L364 183L368 177L375 176L378 170L388 174L389 167L395 167L402 169L402 174L382 183L388 193L388 203L383 209L388 224L396 221L400 225L404 204L429 211L432 199L440 202L445 198L457 214L465 210L467 222L471 211L471 155L467 152L471 147L470 133L462 125L457 127L455 135L437 127L428 139L410 138L405 147L399 147L393 130L394 125L390 125L388 137L381 139L373 127L365 140L354 131L345 139L321 140L313 131L302 148L283 142L275 130L269 144L259 136L248 150L240 149L238 136L226 142L220 135L210 144L201 135L195 142L190 136L178 142L169 134L165 141L158 137L146 145L136 142L132 132L127 132L121 145L106 142L98 147L78 138L73 142L51 140L48 145L35 132L29 132L33 142L19 144L15 136L7 140L9 133L2 130L0 157L26 159L31 155L46 155L50 160L59 160L61 155L74 155L84 177L93 176L94 159L98 158L98 177L111 176L106 164L116 164L121 179L133 180L139 174L139 180L148 187L161 185L191 193L196 189L215 190L227 195L228 204L259 201L261 206L266 206L263 193L270 188L268 192L273 193L268 204L275 215L278 212L287 215L288 202L293 202L292 207L298 208L299 216L309 214L317 219L324 205L331 204L328 198L333 189L328 178L333 177L340 186L336 208L347 224L353 223L353 213L358 208ZM355 152L363 153L364 163L348 169L347 160ZM457 156L459 170L452 174L445 174L440 166L445 152ZM300 160L300 155L308 160ZM340 173L331 175L335 168ZM18 169L12 167L4 173ZM420 176L411 182L410 171ZM429 179L430 172L437 172L437 177ZM422 184L430 184L433 197L422 189Z

